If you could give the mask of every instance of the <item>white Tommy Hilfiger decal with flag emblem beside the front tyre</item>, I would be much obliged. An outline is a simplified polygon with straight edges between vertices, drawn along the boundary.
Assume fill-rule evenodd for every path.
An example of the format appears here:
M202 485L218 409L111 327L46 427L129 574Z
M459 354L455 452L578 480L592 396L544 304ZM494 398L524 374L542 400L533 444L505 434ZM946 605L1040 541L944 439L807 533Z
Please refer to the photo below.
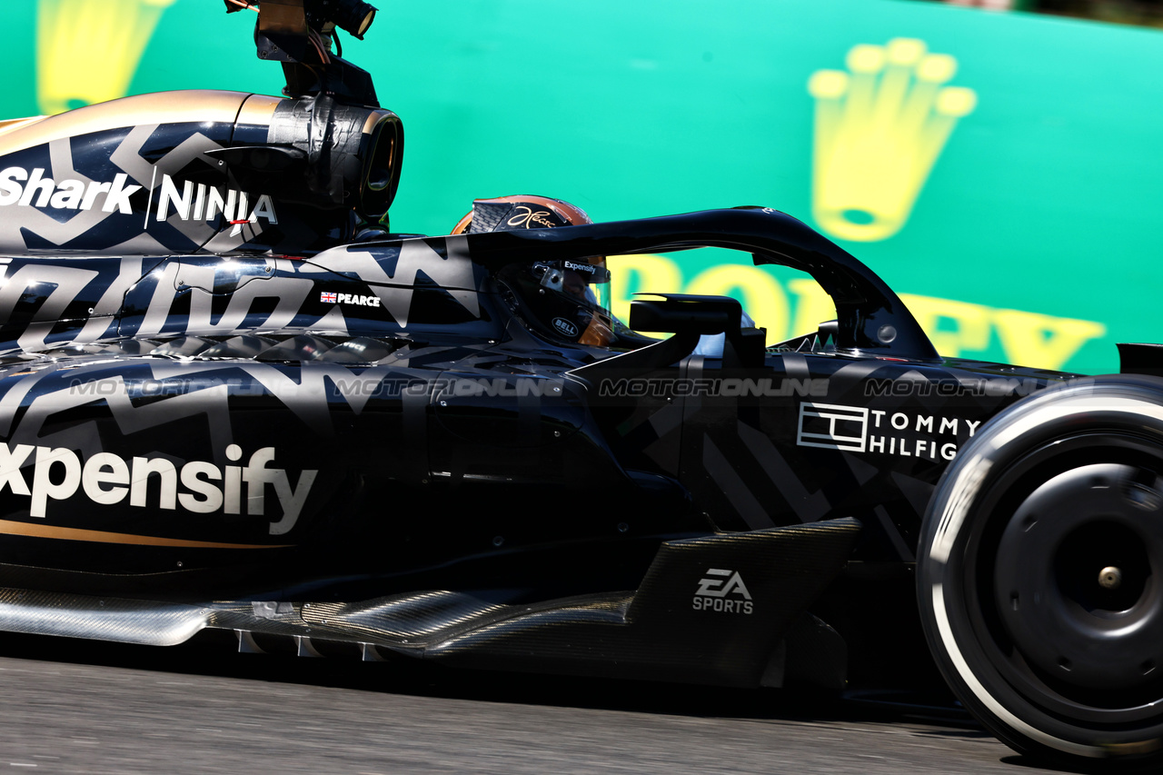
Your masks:
M950 461L982 420L866 406L800 404L795 443L852 453Z

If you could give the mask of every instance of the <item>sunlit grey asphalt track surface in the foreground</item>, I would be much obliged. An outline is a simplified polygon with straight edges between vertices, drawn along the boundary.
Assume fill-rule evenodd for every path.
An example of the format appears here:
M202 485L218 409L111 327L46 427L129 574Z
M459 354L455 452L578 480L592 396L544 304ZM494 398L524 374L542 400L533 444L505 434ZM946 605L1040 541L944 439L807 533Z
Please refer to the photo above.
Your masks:
M0 775L1039 772L955 708L0 638Z

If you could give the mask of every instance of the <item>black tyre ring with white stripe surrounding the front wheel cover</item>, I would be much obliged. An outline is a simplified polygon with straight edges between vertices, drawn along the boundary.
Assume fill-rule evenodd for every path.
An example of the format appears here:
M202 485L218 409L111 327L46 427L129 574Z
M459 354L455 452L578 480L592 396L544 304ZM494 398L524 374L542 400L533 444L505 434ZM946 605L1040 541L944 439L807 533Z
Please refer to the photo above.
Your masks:
M978 506L1025 455L1084 433L1135 434L1163 448L1163 381L1128 375L1076 381L1019 401L984 425L941 477L925 518L918 552L921 620L954 691L1015 749L1075 763L1112 756L1157 761L1163 711L1154 724L1118 732L1063 721L1007 683L969 624L973 542L991 519L1007 518Z

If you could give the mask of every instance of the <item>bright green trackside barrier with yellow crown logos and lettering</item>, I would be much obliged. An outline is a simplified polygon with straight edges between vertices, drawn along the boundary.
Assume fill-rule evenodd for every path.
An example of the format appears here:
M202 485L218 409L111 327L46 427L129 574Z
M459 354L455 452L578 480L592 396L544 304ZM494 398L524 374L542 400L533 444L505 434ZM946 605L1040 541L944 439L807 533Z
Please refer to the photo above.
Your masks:
M1099 372L1116 341L1163 341L1163 33L900 0L380 5L366 41L344 42L407 128L398 230L447 233L507 193L599 220L766 205L875 268L944 355ZM29 77L6 116L281 86L254 14L219 0L40 0L0 19L37 30L9 41ZM769 341L828 314L789 273L612 264L619 304L664 280L729 292Z

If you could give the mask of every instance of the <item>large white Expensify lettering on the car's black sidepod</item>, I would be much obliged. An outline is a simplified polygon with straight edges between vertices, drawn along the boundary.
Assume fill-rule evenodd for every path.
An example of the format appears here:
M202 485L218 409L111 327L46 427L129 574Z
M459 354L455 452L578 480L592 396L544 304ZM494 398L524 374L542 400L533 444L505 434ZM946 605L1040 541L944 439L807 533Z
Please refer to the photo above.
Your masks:
M238 461L242 448L230 445L226 456ZM29 460L33 462L31 486L22 470ZM114 453L98 453L83 464L77 453L64 447L0 442L0 493L7 489L13 495L29 497L29 514L41 518L45 516L49 500L67 500L77 496L78 490L101 505L120 504L128 498L129 506L141 509L152 505L164 510L180 507L197 514L221 511L263 516L266 485L271 484L283 510L283 518L271 525L271 534L279 535L294 527L319 471L301 471L292 486L285 469L266 468L273 460L274 447L263 447L250 455L245 465L220 468L207 461L187 461L179 468L165 457L127 461Z

